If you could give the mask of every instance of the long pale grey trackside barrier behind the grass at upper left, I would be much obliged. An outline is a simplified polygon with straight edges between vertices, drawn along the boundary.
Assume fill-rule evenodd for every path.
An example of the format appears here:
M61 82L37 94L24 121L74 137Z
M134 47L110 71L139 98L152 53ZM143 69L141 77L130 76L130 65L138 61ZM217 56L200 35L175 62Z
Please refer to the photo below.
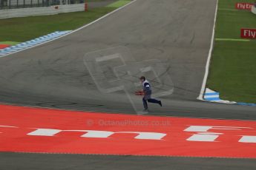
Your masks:
M0 10L0 18L16 18L25 16L47 16L58 13L84 11L85 4L66 4L51 7L33 7L13 10Z

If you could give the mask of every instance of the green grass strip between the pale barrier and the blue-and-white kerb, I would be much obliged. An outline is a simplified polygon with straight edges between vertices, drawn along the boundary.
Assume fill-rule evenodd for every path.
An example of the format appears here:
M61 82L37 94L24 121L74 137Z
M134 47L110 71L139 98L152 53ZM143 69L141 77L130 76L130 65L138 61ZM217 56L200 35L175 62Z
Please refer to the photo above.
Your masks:
M116 1L108 7L89 9L88 12L0 19L0 40L24 42L55 31L75 30L129 2Z

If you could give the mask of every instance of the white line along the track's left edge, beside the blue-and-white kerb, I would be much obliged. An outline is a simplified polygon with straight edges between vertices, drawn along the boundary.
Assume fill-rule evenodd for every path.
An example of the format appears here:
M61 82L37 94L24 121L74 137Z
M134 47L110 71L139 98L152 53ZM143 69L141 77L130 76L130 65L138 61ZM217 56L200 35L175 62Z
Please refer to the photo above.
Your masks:
M64 37L64 36L67 36L67 35L70 35L70 34L72 34L72 33L75 33L75 32L77 32L77 31L79 31L79 30L82 30L83 28L88 27L88 26L90 26L91 24L94 24L94 23L96 23L97 21L102 20L103 18L105 18L105 17L107 17L107 16L110 16L110 15L113 14L113 13L116 13L118 10L122 10L122 8L128 6L129 4L134 3L135 1L137 1L137 0L133 0L133 1L129 2L128 4L125 4L124 6L117 8L116 10L112 11L111 13L107 13L105 16L102 16L102 17L96 19L95 21L92 21L91 23L86 24L85 26L79 27L78 29L71 31L71 32L68 33L68 34L59 36L58 38L55 38L55 39L50 40L50 41L45 41L45 42L43 42L42 44L47 44L47 43L49 43L49 42L51 42L51 41L55 41L56 39L62 38L62 37ZM33 47L37 47L37 46L42 45L42 44L37 44L37 45L35 45L35 46L33 46ZM28 47L28 48L26 48L26 49L24 49L24 50L29 50L29 49L31 49L31 48L33 48L33 47ZM16 52L11 52L11 53L9 53L9 54L7 54L7 55L1 55L0 58L1 58L1 57L6 57L6 56L8 56L8 55L15 54L15 53L17 53L17 52L22 52L22 51L24 51L24 50L19 50L19 51L16 51Z

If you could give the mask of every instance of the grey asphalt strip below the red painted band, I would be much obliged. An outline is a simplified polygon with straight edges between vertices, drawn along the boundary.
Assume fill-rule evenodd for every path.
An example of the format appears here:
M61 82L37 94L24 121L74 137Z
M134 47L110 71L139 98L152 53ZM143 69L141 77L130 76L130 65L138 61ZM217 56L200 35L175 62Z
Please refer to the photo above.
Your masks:
M2 169L255 169L255 160L200 157L133 157L1 153Z

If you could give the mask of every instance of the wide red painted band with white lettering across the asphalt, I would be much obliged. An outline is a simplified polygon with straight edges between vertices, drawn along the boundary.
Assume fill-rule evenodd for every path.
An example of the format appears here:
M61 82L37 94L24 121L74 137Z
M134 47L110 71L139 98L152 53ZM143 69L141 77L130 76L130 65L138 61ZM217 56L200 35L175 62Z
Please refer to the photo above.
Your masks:
M207 132L189 132L192 126L214 128ZM39 129L43 129L42 132L36 133ZM100 137L97 133L90 137L92 133L88 135L89 130L112 133L108 137ZM148 135L148 139L141 139L147 135L138 136L139 132L155 132L164 136L151 139ZM211 133L217 135L213 142L193 141L193 137L198 140L195 134ZM239 142L245 135L252 137L251 143ZM71 112L0 105L1 152L256 157L253 136L256 136L255 121ZM206 137L205 140L208 139Z

